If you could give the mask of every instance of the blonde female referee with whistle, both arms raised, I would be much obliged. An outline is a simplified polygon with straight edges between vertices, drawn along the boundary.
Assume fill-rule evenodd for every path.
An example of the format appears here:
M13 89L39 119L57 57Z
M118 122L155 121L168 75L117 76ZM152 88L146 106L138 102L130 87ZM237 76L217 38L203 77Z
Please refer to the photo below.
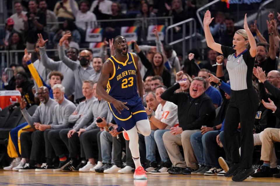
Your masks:
M214 42L210 33L211 18L209 10L204 15L204 32L208 47L223 53L227 58L227 71L230 76L231 99L225 115L226 150L231 156L231 166L225 174L233 176L233 181L243 181L254 173L253 161L253 125L258 108L258 95L252 84L253 67L257 53L257 44L247 24L247 14L244 17L244 29L234 34L232 47L226 47ZM217 64L222 65L222 64ZM211 78L209 78L211 81ZM240 145L238 151L237 128L241 125Z

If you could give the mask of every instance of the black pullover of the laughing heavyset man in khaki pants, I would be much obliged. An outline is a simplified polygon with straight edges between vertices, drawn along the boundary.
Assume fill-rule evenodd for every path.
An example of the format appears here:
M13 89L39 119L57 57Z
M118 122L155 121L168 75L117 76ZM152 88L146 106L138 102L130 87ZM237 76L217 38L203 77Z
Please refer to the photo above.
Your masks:
M213 127L216 112L209 96L204 93L193 99L189 93L174 93L179 88L179 83L176 83L160 96L162 99L178 105L179 127L182 127L183 130L200 129L203 125Z

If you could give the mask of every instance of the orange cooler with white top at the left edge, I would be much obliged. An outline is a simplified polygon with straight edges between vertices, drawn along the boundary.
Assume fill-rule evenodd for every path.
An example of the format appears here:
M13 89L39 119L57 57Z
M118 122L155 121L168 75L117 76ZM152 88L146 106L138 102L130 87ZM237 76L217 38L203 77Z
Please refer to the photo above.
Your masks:
M21 98L18 90L2 90L0 91L0 108L3 109L12 103L17 103Z

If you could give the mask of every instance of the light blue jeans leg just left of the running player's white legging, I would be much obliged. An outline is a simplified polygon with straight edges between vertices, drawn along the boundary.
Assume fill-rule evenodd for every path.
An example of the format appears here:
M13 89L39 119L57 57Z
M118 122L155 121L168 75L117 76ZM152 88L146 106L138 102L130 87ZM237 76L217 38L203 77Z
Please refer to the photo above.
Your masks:
M113 136L104 130L100 134L102 163L111 163L112 143L113 143Z

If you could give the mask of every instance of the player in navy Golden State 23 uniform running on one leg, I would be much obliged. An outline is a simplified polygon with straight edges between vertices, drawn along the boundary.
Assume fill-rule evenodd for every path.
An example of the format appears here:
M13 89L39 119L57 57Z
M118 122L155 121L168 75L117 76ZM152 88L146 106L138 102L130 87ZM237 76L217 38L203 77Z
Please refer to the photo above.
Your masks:
M137 132L148 136L151 128L141 100L143 89L138 57L135 53L127 52L125 37L116 36L113 44L115 55L104 62L96 91L108 102L113 119L118 124L117 130L123 131L125 139L129 140L136 168L134 179L147 179L146 171L140 163Z

